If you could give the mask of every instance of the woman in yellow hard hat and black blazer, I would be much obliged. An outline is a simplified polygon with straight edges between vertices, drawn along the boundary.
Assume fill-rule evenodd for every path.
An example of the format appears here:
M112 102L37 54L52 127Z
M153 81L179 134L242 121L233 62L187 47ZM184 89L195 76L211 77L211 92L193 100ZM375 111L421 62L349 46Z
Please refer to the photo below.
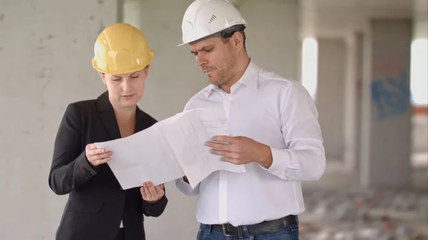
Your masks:
M71 103L59 126L49 187L69 194L57 240L142 240L143 214L160 216L166 207L163 184L121 189L106 162L114 152L93 142L127 137L156 120L137 106L153 51L129 24L113 24L98 36L93 68L107 91L94 100ZM154 160L156 161L156 160Z

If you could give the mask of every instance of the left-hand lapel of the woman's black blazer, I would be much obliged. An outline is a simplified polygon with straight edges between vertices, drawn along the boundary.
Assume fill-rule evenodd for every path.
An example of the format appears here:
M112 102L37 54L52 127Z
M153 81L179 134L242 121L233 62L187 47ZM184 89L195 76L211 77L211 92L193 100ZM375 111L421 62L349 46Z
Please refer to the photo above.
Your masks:
M97 98L97 110L103 122L104 127L110 135L111 140L121 138L121 132L119 131L118 122L114 115L113 106L108 99L108 91L104 92Z

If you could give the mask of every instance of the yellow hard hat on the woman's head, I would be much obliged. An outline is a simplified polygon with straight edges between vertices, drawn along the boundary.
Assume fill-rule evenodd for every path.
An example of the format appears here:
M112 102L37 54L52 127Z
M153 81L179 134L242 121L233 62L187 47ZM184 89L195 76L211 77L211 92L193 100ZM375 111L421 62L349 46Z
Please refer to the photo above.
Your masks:
M93 50L93 68L111 75L140 71L153 59L146 37L130 24L106 27L96 39Z

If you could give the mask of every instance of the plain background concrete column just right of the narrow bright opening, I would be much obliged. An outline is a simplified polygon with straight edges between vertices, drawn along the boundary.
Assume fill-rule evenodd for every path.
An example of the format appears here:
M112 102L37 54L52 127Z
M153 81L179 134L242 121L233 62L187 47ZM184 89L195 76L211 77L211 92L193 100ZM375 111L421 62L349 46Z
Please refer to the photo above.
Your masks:
M343 160L345 41L318 38L316 103L327 160Z

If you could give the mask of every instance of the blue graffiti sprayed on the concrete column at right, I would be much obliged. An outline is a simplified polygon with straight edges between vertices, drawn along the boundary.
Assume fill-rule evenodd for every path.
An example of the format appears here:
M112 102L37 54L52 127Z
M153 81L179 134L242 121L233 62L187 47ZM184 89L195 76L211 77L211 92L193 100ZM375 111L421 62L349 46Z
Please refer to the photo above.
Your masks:
M410 109L407 71L399 71L399 78L387 77L374 80L372 82L372 100L377 108L378 120L407 113Z

